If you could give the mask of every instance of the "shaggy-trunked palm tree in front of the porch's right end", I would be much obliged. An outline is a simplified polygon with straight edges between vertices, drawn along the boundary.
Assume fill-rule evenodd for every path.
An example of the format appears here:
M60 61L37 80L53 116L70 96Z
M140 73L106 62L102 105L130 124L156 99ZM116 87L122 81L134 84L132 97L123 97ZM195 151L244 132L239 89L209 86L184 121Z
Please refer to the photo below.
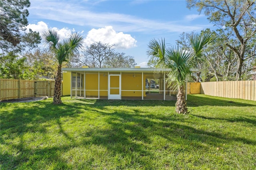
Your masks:
M186 51L181 47L166 47L165 40L151 40L148 45L147 54L150 56L150 61L156 63L156 68L169 68L167 74L167 83L178 89L176 112L187 114L186 98L184 90L186 87L186 79L191 73L191 69L196 66L196 63L204 62L203 49L215 42L215 38L209 33L201 32L190 38L192 49Z

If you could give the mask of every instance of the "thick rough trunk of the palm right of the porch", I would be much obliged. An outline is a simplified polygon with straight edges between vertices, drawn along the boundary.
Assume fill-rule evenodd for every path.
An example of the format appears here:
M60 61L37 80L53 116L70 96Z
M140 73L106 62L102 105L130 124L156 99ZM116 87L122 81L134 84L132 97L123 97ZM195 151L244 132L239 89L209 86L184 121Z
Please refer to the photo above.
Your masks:
M176 102L176 112L177 113L182 113L183 115L188 113L188 108L187 108L187 103L186 103L186 98L184 95L184 87L180 86L178 89L178 94L177 94L177 102Z

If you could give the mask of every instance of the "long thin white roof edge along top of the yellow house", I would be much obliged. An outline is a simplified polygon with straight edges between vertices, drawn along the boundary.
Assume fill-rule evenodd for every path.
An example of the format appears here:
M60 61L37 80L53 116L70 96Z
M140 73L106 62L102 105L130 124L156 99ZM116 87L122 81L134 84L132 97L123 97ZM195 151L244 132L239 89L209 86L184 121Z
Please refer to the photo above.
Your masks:
M62 68L62 71L67 72L108 72L108 71L124 71L124 72L169 72L168 68ZM198 69L192 69L192 72L198 71Z

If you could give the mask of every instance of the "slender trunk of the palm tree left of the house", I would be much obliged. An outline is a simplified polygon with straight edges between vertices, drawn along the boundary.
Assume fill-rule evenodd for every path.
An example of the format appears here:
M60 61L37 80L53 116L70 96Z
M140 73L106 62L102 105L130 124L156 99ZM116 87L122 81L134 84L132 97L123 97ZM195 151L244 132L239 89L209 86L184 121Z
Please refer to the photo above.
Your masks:
M60 104L61 101L61 65L58 65L58 71L55 78L53 104Z

